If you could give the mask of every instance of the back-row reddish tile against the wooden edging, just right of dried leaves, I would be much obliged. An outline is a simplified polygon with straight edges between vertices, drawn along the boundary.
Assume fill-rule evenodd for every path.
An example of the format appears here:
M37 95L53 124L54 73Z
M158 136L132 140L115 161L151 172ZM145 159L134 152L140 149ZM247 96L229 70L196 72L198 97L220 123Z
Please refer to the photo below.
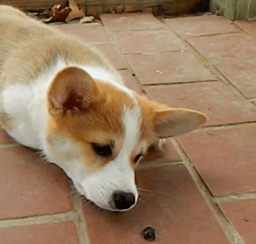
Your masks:
M165 27L151 13L101 15L103 25L112 32L162 29Z

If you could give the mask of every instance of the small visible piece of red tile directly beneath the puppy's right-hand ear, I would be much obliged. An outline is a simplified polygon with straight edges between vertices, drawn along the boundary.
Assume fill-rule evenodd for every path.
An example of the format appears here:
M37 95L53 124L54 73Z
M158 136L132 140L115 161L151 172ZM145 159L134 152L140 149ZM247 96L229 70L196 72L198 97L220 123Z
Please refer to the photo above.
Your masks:
M172 145L172 142L169 139L166 139L166 142L162 145L162 150L155 151L152 148L149 148L148 154L141 161L140 164L154 162L154 163L163 163L163 162L176 162L180 161L180 157L177 154L176 149Z

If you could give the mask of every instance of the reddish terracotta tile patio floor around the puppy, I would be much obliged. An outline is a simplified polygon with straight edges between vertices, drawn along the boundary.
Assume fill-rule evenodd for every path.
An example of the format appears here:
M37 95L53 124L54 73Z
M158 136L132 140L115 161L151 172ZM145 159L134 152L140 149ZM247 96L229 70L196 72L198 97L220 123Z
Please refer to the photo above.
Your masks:
M105 53L128 87L207 125L168 139L137 170L141 200L102 211L62 171L0 131L1 244L256 243L256 21L102 15L57 25Z

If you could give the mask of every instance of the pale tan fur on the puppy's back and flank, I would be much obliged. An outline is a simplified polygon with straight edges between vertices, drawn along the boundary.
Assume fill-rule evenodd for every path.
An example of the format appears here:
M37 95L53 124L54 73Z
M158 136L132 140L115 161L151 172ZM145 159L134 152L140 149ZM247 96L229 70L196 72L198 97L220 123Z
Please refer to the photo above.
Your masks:
M9 84L32 82L57 56L63 61L106 67L116 73L102 54L79 39L33 20L18 9L0 6L0 92ZM3 113L1 103L0 123L10 130L12 118Z

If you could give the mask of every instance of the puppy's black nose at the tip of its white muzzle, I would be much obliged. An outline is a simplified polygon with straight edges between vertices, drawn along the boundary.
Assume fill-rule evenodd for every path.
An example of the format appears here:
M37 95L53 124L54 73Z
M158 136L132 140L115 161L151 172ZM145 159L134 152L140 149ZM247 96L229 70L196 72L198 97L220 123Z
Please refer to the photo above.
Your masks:
M112 195L114 206L119 209L128 209L135 204L135 195L124 191L115 191Z

